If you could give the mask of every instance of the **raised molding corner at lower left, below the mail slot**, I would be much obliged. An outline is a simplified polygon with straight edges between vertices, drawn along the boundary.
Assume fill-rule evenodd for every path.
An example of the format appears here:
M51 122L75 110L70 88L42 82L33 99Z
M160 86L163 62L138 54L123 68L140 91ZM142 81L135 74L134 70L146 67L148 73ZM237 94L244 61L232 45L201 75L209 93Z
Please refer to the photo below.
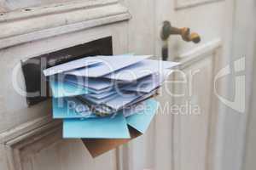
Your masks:
M61 122L52 121L50 116L26 122L0 133L0 144L4 145L9 170L23 170L23 156L27 149L40 150L61 140ZM33 147L35 146L35 147Z

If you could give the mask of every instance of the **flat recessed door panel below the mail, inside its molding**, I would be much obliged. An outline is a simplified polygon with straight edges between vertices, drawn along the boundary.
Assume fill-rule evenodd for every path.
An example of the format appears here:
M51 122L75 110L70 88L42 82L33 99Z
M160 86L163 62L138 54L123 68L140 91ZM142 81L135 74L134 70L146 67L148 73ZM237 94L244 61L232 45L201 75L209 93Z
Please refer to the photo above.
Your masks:
M32 144L28 148L22 149L20 157L23 169L116 169L114 151L93 159L84 148L81 140L64 140L60 138L59 141L48 144L44 148L41 148L41 144Z

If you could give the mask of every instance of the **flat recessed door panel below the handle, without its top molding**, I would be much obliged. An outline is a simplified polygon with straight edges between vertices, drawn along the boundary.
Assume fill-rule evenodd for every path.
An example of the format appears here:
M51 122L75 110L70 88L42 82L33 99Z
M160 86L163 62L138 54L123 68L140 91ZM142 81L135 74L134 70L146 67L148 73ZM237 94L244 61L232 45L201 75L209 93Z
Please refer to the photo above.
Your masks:
M175 98L179 107L174 112L174 169L205 170L212 121L212 59L207 56L183 68L186 82L175 88L182 97ZM177 80L183 78L178 77Z

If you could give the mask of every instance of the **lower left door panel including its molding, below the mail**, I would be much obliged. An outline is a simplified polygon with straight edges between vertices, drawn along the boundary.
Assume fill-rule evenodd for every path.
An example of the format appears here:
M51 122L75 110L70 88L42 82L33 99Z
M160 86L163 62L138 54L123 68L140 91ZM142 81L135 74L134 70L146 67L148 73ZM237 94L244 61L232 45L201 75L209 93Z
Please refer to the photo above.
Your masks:
M47 123L34 129L39 122ZM81 140L62 139L61 129L61 122L45 117L6 133L3 142L9 169L116 169L114 150L94 159Z

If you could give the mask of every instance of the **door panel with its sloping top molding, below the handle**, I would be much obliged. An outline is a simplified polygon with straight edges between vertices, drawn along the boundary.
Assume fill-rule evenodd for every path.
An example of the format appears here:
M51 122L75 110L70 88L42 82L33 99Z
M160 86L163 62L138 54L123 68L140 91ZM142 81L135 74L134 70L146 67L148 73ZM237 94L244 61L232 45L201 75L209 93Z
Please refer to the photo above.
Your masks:
M173 87L175 93L185 94L173 98L173 101L175 105L188 105L189 109L184 111L184 115L172 116L174 169L212 169L217 159L215 141L221 129L218 127L218 103L213 94L213 78L222 43L218 37L176 57L188 82ZM174 78L180 80L183 77L177 74ZM194 106L199 107L198 112L194 113Z

